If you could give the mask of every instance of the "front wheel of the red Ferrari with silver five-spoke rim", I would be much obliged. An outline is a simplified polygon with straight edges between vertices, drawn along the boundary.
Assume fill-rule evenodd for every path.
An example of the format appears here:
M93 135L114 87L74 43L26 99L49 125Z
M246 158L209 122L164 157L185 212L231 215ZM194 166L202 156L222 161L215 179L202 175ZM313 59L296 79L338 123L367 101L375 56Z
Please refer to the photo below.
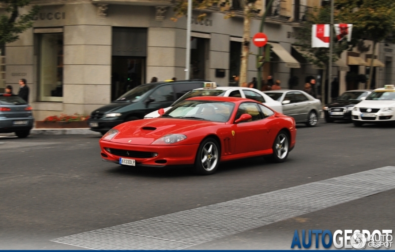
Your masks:
M195 172L200 175L211 175L216 172L220 163L221 150L214 138L204 139L195 158Z

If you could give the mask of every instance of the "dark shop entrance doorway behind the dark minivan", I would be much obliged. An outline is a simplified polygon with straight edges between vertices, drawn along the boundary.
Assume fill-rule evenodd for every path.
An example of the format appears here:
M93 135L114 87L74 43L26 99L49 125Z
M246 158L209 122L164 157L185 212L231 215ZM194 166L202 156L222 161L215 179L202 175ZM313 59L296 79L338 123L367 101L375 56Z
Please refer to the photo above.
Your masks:
M145 83L145 57L113 56L111 100Z

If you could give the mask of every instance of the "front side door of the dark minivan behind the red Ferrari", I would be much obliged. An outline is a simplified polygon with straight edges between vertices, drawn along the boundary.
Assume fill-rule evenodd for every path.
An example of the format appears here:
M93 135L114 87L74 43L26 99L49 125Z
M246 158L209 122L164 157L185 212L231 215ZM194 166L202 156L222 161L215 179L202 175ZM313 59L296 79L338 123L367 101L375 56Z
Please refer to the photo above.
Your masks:
M172 85L164 85L156 88L145 100L145 113L151 113L160 108L169 107L174 102L174 92Z

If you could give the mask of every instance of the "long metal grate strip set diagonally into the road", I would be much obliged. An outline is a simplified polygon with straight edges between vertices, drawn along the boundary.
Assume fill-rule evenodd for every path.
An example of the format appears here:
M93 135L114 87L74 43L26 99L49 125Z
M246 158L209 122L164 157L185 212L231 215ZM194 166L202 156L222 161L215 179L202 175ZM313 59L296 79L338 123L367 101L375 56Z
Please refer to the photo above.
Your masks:
M395 167L226 201L52 241L105 250L181 250L395 188Z

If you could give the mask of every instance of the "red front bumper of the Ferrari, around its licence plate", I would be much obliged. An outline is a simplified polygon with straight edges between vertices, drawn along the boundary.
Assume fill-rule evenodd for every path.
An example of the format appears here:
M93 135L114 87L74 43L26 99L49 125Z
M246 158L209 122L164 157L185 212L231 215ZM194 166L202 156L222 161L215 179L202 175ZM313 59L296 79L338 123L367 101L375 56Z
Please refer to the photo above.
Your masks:
M157 156L150 158L137 158L134 156L119 156L112 154L105 148L117 150L130 150L139 152L158 153ZM129 145L112 143L100 140L101 156L103 161L119 164L119 158L134 159L136 166L167 167L178 165L192 165L195 163L196 153L199 145Z

